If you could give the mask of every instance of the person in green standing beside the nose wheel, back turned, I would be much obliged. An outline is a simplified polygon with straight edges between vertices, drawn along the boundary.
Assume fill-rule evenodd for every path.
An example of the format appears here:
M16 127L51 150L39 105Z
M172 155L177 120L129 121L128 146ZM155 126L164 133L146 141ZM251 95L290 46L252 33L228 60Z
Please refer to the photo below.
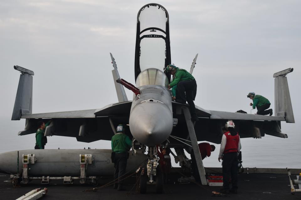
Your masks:
M129 158L129 149L132 146L132 141L129 136L124 134L124 125L119 124L116 129L116 134L112 137L112 160L114 161L114 180L118 179L118 183L114 183L114 189L118 191L125 190L120 179L125 174L126 163ZM121 178L120 178L121 177Z

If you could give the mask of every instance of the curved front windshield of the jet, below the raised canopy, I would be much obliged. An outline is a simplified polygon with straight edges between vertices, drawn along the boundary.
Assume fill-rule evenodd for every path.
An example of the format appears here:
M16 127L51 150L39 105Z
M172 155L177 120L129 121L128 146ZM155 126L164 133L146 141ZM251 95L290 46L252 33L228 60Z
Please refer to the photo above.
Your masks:
M161 85L168 87L168 79L165 73L156 68L146 69L141 72L136 80L136 87L143 85Z

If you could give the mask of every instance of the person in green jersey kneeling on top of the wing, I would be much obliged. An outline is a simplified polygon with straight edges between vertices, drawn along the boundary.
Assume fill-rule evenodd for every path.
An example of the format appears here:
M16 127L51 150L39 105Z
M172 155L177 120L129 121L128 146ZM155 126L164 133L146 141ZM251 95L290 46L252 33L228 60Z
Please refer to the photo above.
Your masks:
M247 97L253 100L253 103L250 103L250 106L252 106L253 109L257 108L257 115L269 114L271 116L273 114L273 109L268 109L270 108L271 103L267 98L258 94L255 95L253 92L249 93Z

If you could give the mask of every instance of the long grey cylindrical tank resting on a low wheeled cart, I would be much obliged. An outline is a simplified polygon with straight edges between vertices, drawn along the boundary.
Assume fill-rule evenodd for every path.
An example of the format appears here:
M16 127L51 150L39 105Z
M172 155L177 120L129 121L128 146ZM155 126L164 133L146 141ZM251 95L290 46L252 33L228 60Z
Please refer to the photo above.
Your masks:
M37 176L81 176L84 165L85 176L113 176L114 163L110 149L29 149L0 153L0 171L22 174L27 168L28 177ZM81 155L81 157L80 157ZM88 158L91 157L91 158ZM145 154L130 152L127 172L133 172L146 159ZM30 178L29 178L30 179Z

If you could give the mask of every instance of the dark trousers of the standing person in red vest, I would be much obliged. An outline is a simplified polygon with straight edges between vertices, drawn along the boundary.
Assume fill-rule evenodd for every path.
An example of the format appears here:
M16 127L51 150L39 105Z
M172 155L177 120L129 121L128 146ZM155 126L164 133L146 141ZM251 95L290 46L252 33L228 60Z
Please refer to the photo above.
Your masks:
M229 190L229 178L231 175L232 189L237 189L238 158L236 152L225 153L223 157L223 187Z

